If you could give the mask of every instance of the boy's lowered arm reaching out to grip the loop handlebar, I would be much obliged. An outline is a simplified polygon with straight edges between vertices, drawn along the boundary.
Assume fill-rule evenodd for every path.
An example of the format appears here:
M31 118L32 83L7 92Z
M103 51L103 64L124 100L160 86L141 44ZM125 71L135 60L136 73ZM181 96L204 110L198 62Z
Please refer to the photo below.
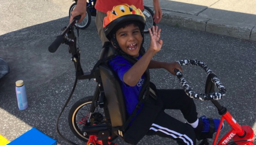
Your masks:
M148 67L149 69L166 69L173 75L175 75L174 69L179 69L182 72L182 67L177 62L166 63L151 60Z

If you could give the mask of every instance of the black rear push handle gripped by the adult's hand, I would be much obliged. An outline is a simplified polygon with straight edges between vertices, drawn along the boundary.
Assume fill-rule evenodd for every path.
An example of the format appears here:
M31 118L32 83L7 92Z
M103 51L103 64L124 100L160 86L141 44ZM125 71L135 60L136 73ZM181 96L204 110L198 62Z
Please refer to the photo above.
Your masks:
M59 46L61 45L61 43L64 43L65 41L65 34L70 31L70 29L74 26L74 24L76 22L78 22L78 20L81 18L81 15L75 16L73 21L71 23L69 23L66 27L66 29L61 33L61 35L57 36L57 38L53 41L53 43L48 47L48 50L50 53L54 53Z

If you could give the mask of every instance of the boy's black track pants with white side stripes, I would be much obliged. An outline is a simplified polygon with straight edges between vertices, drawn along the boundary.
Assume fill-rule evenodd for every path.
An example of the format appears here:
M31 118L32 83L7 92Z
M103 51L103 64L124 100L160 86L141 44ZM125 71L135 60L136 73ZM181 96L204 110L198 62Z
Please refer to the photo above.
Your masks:
M195 132L191 125L183 123L164 112L165 109L181 110L184 118L193 123L197 120L196 106L192 98L189 98L182 89L165 90L158 89L157 96L163 102L163 109L150 127L147 135L168 137L178 144L196 144Z

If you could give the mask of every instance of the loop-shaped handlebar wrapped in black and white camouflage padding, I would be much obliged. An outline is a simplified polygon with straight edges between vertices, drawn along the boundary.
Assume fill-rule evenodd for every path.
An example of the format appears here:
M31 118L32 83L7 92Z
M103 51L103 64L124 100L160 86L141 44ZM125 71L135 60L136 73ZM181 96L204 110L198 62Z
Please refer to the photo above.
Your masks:
M211 75L211 81L216 85L216 87L220 90L219 92L213 92L213 93L196 93L194 92L190 87L188 82L183 78L182 73L178 70L175 69L175 73L176 76L178 77L178 79L180 80L181 84L182 84L182 88L184 89L185 93L190 97L190 98L194 98L194 99L199 99L202 101L206 101L206 100L219 100L221 98L223 98L226 94L226 89L225 87L220 83L220 80L217 78L216 74L210 70L208 68L208 66L198 60L180 60L177 61L177 63L179 63L181 66L184 65L194 65L194 66L200 66L202 67L207 75Z

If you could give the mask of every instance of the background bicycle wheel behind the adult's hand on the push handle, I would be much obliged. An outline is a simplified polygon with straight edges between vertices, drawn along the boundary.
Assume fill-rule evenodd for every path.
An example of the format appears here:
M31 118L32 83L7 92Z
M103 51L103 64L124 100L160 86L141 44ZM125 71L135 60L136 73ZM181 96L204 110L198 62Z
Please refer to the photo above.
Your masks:
M71 16L71 11L74 10L76 7L76 3L72 4L69 8L69 18ZM80 29L85 29L91 24L92 15L89 8L86 8L86 16L80 23L75 24L75 26L79 27Z

